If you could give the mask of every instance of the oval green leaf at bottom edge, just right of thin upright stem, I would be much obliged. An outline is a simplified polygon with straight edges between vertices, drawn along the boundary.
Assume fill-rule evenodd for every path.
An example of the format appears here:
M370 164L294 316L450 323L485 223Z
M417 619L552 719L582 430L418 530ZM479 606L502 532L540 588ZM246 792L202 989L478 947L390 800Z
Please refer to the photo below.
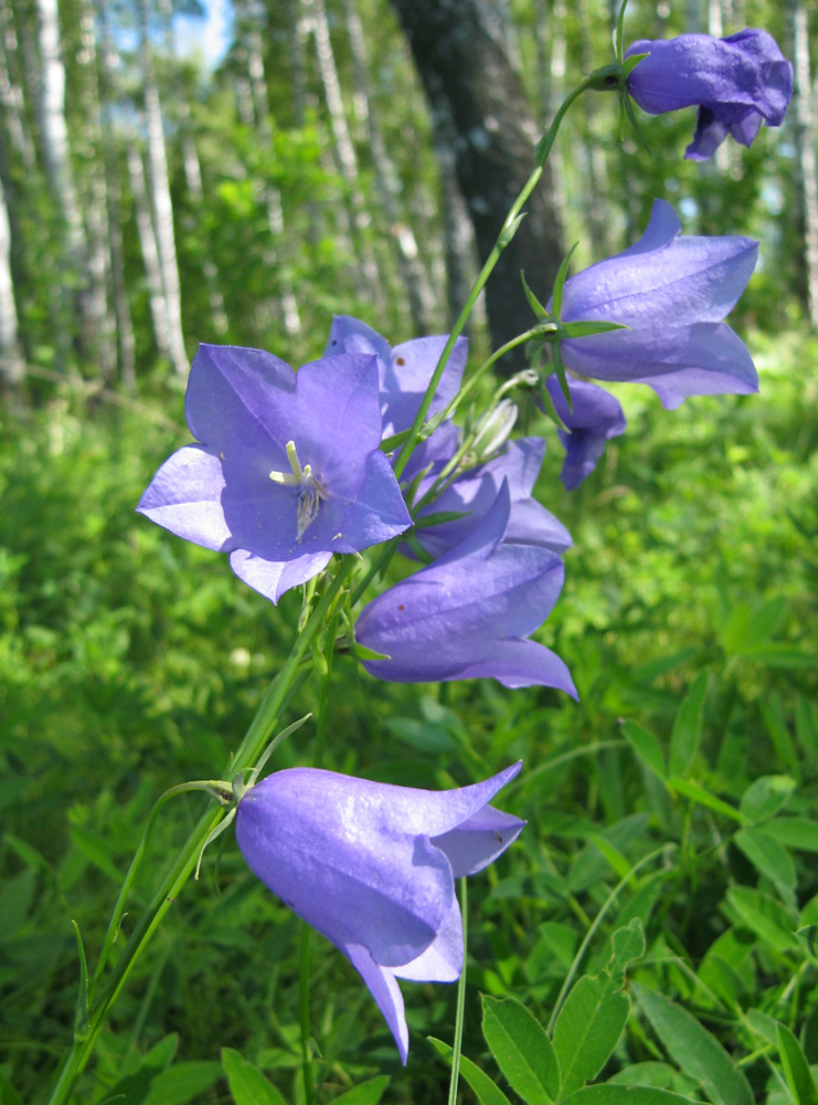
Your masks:
M482 1034L511 1088L529 1105L560 1095L560 1067L545 1030L514 998L482 997Z

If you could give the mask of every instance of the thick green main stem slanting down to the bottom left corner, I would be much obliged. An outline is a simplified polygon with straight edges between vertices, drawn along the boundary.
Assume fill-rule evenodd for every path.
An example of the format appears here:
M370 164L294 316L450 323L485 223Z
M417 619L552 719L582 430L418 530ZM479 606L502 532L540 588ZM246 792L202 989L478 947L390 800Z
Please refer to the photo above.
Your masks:
M323 620L331 609L336 597L354 570L355 562L354 557L346 557L341 560L334 579L316 606L307 624L296 638L286 664L267 687L244 739L225 769L225 776L229 774L235 776L243 768L252 767L264 751L278 717L295 691L294 684L299 674L298 669L301 659L309 648L310 641L323 624ZM174 903L182 887L193 873L199 852L204 841L221 821L222 815L222 810L211 809L200 818L195 829L184 842L177 859L162 878L150 905L145 911L121 956L115 964L99 998L94 1003L88 1019L87 1035L82 1040L74 1040L72 1050L60 1071L56 1085L49 1098L49 1105L66 1105L68 1102L77 1078L94 1051L94 1045L107 1020L109 1010L119 996L136 960L145 950L164 914ZM140 860L142 854L144 849L142 844L140 844L140 852L138 853ZM124 898L120 895L117 908L121 908L123 904Z

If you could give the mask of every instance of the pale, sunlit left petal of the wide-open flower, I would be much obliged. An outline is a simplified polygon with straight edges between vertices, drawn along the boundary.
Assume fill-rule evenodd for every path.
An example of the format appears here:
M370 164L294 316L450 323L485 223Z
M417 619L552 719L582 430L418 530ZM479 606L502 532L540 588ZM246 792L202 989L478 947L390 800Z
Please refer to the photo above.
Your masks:
M226 552L235 547L224 518L222 464L212 449L184 445L162 464L137 511L178 537Z

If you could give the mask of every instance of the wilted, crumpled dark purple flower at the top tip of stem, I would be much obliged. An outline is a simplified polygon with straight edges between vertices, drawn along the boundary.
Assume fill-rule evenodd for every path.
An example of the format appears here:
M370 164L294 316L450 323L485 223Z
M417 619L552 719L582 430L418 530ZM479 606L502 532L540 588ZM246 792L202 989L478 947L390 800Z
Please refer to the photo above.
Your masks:
M793 95L793 66L775 39L745 28L726 39L681 34L669 41L640 40L626 57L647 54L627 78L644 112L661 115L698 106L695 137L684 156L705 161L731 134L750 146L762 123L777 127Z

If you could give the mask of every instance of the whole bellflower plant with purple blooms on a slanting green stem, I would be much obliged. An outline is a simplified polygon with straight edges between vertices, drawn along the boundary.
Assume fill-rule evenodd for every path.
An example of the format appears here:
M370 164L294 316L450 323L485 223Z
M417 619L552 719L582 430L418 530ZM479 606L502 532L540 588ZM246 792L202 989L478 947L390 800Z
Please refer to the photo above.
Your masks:
M708 156L723 131L748 143L762 118L777 125L783 117L792 91L788 63L763 32L745 31L722 43L700 41L704 36L638 42L625 55L622 28L620 14L616 60L569 95L540 141L531 177L450 335L401 335L393 346L369 323L339 316L322 356L297 372L272 352L200 348L185 398L195 442L161 465L138 509L179 537L229 554L238 578L272 602L300 587L301 613L291 651L247 733L237 747L234 734L225 744L235 750L222 778L181 785L160 799L157 813L170 793L198 788L211 804L108 966L152 820L146 830L94 974L84 970L79 1027L52 1105L68 1102L132 964L169 903L190 893L185 884L204 846L232 822L251 870L362 976L404 1063L410 1035L397 979L459 979L454 1105L466 964L465 883L461 906L455 884L502 863L523 831L513 812L489 804L520 765L475 778L474 764L453 761L450 777L464 785L438 790L323 770L333 657L363 680L493 678L509 693L543 685L575 696L564 662L535 640L557 602L571 536L534 497L545 441L513 436L517 400L533 390L557 423L566 450L563 482L571 488L593 472L605 442L625 430L618 401L588 379L648 385L669 409L688 396L746 394L758 386L746 347L724 322L750 280L757 244L684 235L662 200L655 202L641 238L623 252L571 277L566 261L546 306L521 288L535 315L531 329L466 369L466 322L578 95L615 91L647 110L698 104L695 152L689 154L697 157ZM761 65L761 82L747 76L754 65ZM748 97L751 84L761 87L758 95ZM633 116L629 101L626 109ZM503 352L521 345L530 369L500 385L487 409L469 410L478 382ZM384 583L392 578L387 567L401 575L391 586ZM319 702L312 764L274 770L259 781L262 766L289 730L270 740L310 677ZM305 932L302 1008L310 977ZM575 1083L569 1067L563 1064L561 1074L557 1059L553 1065L550 1057L562 1046L560 1021L553 1043L538 1027L534 1065L542 1093L528 1099L553 1102L580 1090L616 1046L627 1000L614 983L624 985L627 964L644 950L640 929L631 925L623 933L614 958L592 980L608 987L607 1023L618 1025L607 1051L598 1063L588 1059ZM81 953L85 962L82 944ZM518 1020L523 1014L513 1013ZM311 1103L308 1018L301 1022L301 1056L304 1099ZM468 1076L480 1085L474 1072Z

